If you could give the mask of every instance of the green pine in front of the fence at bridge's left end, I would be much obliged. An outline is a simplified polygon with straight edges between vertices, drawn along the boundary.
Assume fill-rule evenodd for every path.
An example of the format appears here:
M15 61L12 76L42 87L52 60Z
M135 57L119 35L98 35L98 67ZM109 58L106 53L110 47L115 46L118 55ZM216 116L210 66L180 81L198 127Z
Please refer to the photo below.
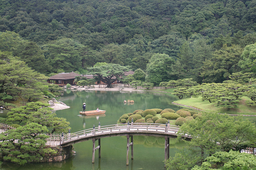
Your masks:
M47 128L37 123L17 127L0 134L0 151L8 162L24 165L39 162L44 154L54 154L55 150L45 146ZM14 142L18 140L19 142Z

